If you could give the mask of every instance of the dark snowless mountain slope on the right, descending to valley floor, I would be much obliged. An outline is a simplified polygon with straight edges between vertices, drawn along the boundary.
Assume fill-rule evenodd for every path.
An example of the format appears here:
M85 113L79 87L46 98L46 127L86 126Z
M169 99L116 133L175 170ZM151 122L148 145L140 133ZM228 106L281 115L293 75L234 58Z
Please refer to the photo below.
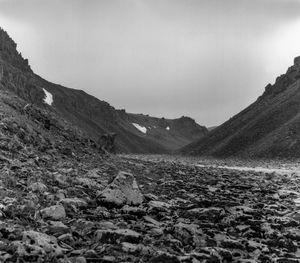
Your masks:
M216 157L300 157L300 57L253 104L182 153Z

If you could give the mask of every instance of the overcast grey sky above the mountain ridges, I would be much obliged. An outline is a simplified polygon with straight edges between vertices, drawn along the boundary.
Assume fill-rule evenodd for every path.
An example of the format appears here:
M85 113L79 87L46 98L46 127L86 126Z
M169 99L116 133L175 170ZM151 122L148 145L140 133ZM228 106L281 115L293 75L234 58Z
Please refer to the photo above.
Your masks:
M300 0L0 0L0 26L51 82L208 127L300 56Z

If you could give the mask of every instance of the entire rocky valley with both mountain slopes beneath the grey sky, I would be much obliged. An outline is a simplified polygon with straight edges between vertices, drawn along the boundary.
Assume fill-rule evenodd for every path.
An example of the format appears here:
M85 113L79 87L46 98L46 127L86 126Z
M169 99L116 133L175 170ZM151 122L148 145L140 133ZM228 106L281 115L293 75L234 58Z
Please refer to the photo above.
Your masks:
M299 109L300 57L206 128L51 83L0 28L0 262L300 262Z

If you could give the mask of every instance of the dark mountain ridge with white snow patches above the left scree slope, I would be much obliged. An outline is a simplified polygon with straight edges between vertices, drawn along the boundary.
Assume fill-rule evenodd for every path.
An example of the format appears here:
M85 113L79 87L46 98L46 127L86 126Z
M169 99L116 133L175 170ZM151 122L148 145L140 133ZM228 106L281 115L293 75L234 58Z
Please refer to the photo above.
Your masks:
M55 113L94 141L105 133L117 133L118 152L167 153L207 133L205 127L188 117L171 120L129 114L84 91L46 81L34 74L16 48L16 43L0 29L1 88Z

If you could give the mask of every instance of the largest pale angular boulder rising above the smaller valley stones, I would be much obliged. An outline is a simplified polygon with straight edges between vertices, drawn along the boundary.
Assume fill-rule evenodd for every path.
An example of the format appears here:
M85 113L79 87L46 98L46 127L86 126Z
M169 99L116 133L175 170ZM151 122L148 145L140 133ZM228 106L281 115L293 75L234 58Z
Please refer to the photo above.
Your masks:
M121 207L123 205L140 205L143 194L131 173L120 172L115 179L98 195L101 204Z

